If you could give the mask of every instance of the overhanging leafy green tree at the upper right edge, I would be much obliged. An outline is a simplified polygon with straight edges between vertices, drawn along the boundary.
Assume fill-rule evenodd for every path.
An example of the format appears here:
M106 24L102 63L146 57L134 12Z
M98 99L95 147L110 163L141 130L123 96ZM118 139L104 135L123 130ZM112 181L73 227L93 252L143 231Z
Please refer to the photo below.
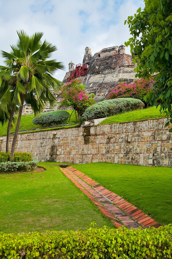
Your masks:
M165 111L166 125L172 123L172 2L171 0L145 0L145 8L139 8L128 21L132 37L125 42L131 47L136 77L148 79L156 74L152 95L145 100L160 105Z

